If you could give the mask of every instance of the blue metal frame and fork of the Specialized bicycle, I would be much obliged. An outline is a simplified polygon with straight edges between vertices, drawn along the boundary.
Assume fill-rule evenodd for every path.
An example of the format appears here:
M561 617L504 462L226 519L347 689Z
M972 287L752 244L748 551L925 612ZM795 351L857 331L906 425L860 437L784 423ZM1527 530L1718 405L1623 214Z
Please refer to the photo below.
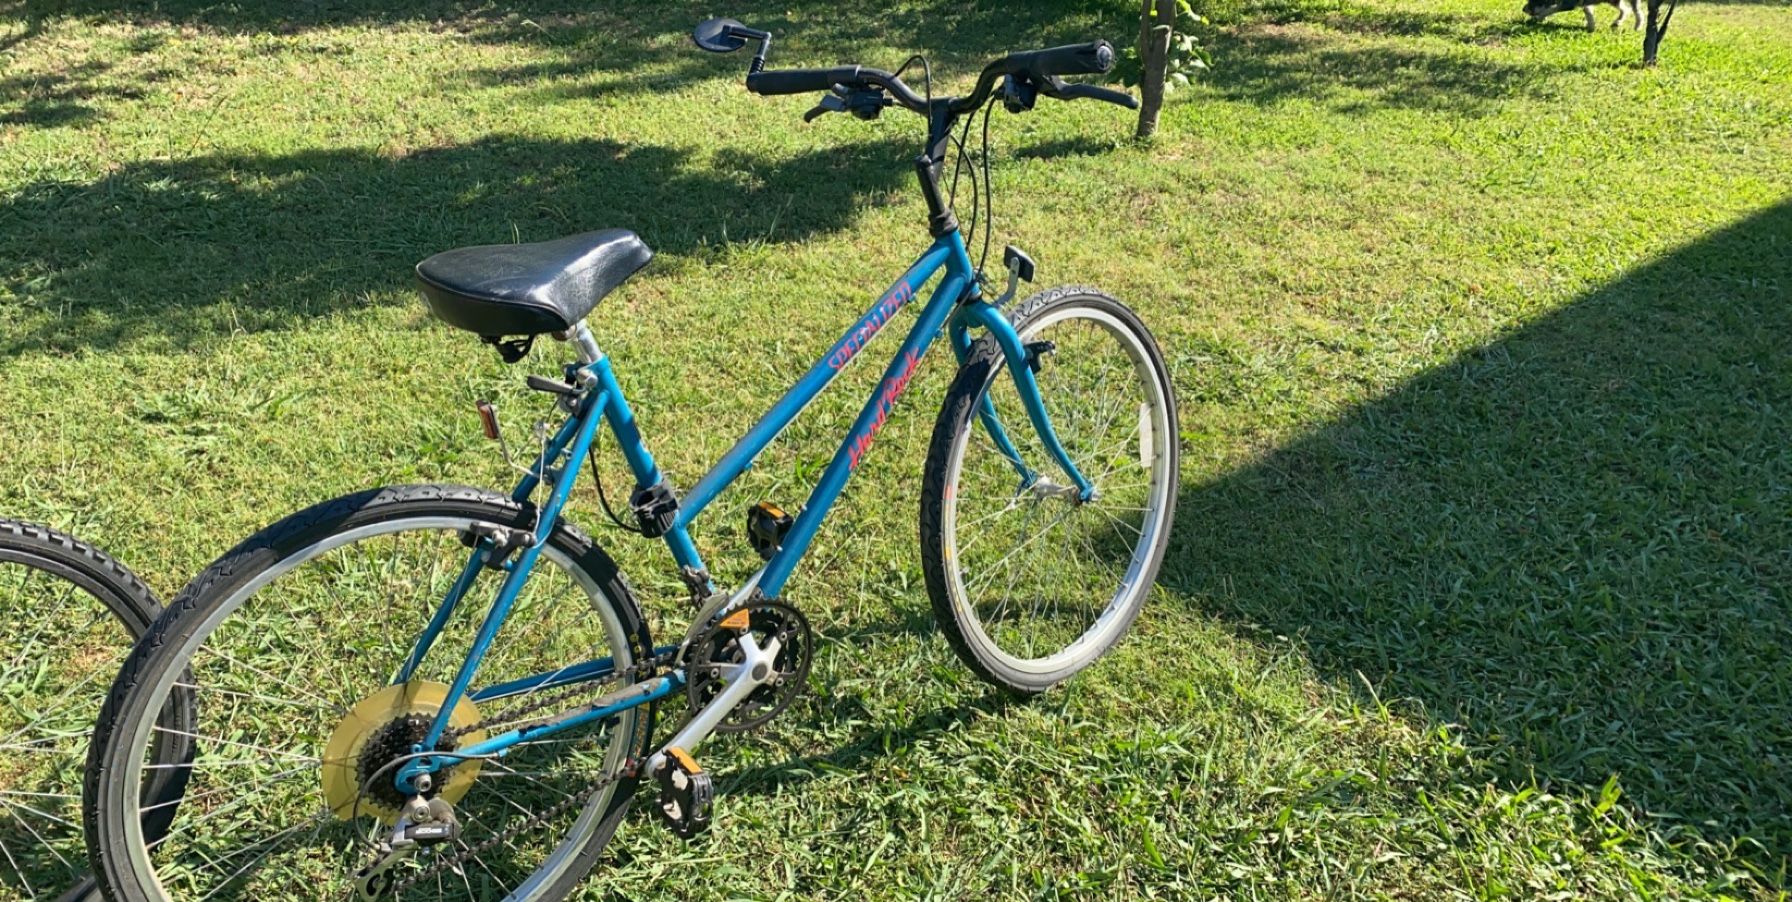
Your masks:
M733 595L729 608L749 599L754 592L763 597L778 597L792 568L808 551L821 522L828 516L833 502L846 488L846 481L864 461L866 450L883 427L896 405L896 400L909 387L923 355L941 332L950 334L953 353L959 357L961 364L971 350L971 328L987 330L987 334L1000 344L1007 360L1027 360L1029 351L1021 344L1014 326L996 307L982 299L975 267L971 265L971 258L964 247L961 233L957 230L950 230L939 235L932 247L928 247L926 253L923 253L914 265L910 265L909 271L878 298L871 310L867 310L849 330L846 330L844 335L840 335L828 355L817 360L808 373L797 380L797 384L792 386L785 396L780 398L778 403L774 403L772 409L758 423L754 423L753 429L749 429L747 434L742 436L740 441L735 443L735 447L729 448L722 459L717 461L717 464L704 473L695 486L692 486L688 493L685 493L683 499L679 499L676 520L665 531L663 540L683 572L706 574L702 559L697 554L697 547L692 543L688 531L697 515L701 515L722 490L747 472L760 452L763 452L765 447L771 445L771 441L778 438L778 434L783 432L783 429L788 427L790 421L796 420L796 416L801 414L803 409L808 407L808 403L815 400L815 396L821 395L821 391L826 389L842 369L846 369L846 364L849 364L853 357L857 357L858 351L864 350L864 346L889 325L898 310L914 299L916 292L926 282L941 273L944 274L934 287L926 307L921 308L919 319L914 326L910 326L909 335L896 351L896 357L883 369L883 378L878 382L878 387L873 391L846 438L840 441L839 450L835 450L833 459L821 475L821 481L810 491L808 502L797 513L796 522L790 525L783 543L771 556L765 567ZM615 662L602 658L471 690L480 660L496 638L504 620L509 617L511 606L527 583L541 549L547 545L547 538L552 533L554 524L559 522L561 509L564 507L566 497L572 493L579 470L588 457L599 423L609 425L638 486L656 486L663 479L652 454L649 454L647 447L642 443L634 412L624 398L622 386L611 371L609 359L597 348L597 343L591 339L582 323L573 334L568 335L568 341L579 348L581 362L572 369L586 386L586 393L572 405L572 416L559 427L554 438L548 439L543 454L530 468L530 473L525 475L511 493L516 500L527 500L536 488L539 488L543 473L554 475L557 472L547 502L539 507L541 525L536 531L538 534L532 536L532 542L521 547L514 561L498 565L505 572L498 597L493 601L491 610L480 622L473 647L461 663L453 685L448 690L448 698L443 701L428 737L414 746L416 753L425 753L435 748L443 732L448 728L448 717L455 705L459 705L461 698L470 698L475 703L489 701L536 689L602 680L615 672ZM1057 434L1052 430L1050 418L1039 400L1039 389L1034 382L1032 368L1018 364L1009 366L1007 369L1012 373L1016 387L1020 389L1027 418L1039 434L1050 457L1072 479L1084 499L1093 497L1093 486L1070 461L1070 455L1057 441ZM984 398L978 409L978 420L984 423L984 429L989 430L996 447L1014 464L1014 470L1020 475L1020 484L1023 488L1032 484L1032 481L1038 479L1038 473L1021 461L1020 452L1014 450L1012 441L1004 430L987 398ZM401 683L414 676L416 669L423 663L423 658L434 646L435 637L448 622L448 617L461 604L462 595L471 588L480 570L491 567L489 561L495 552L495 542L491 538L480 538L459 579L455 579L435 615L418 637L410 658L394 681ZM702 588L706 592L713 592L713 586L704 585ZM747 655L747 662L738 665L728 678L728 689L724 689L722 696L711 701L706 710L699 717L692 719L677 737L667 742L667 746L677 744L685 750L694 750L695 744L713 730L715 723L719 723L740 698L758 685L747 681L747 674L751 672L749 667L774 656L776 649L760 649L751 635L742 637L742 647ZM521 730L509 730L452 753L419 757L400 768L396 776L398 785L407 793L414 793L416 778L419 775L437 771L455 760L470 757L502 755L518 742L543 739L552 733L602 721L606 717L615 717L629 708L667 698L672 692L677 692L683 685L685 674L681 671L665 672L654 676L652 680L611 692L586 705L582 710L559 719L536 723ZM649 766L649 771L650 769L652 764Z

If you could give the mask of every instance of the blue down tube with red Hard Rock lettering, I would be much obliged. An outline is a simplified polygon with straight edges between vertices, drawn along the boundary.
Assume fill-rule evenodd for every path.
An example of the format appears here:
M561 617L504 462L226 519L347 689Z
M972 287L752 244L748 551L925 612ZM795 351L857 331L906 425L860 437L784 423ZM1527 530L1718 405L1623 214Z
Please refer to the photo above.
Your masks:
M957 235L957 233L953 233ZM959 251L961 255L964 251ZM968 267L964 267L968 269ZM876 391L866 407L858 411L858 420L853 420L853 430L848 432L846 441L840 450L833 454L833 461L828 463L828 470L821 475L821 482L815 484L815 491L808 495L808 504L803 506L803 513L797 515L796 524L790 525L790 533L785 536L783 547L778 554L765 563L765 576L760 577L760 592L765 597L778 597L783 592L785 579L790 577L790 570L796 568L796 561L803 558L808 551L810 540L815 538L815 529L828 516L828 509L840 497L840 490L846 488L848 477L858 468L858 461L871 447L871 439L876 436L878 429L889 418L891 409L896 407L896 398L901 396L903 389L909 387L909 380L914 378L914 371L921 366L921 357L926 348L934 344L939 330L946 325L946 316L952 314L953 307L968 285L966 276L959 267L953 267L946 278L939 282L934 289L934 296L926 301L926 308L921 310L921 319L916 321L909 337L903 341L901 350L891 366L883 371L883 380L878 382Z

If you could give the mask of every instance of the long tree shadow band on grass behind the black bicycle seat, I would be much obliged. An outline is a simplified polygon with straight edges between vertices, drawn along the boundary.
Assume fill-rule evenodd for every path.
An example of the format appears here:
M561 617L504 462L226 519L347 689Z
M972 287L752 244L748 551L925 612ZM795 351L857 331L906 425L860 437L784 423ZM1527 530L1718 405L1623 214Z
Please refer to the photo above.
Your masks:
M803 240L907 188L910 152L912 140L876 140L686 167L658 145L489 138L400 158L211 156L43 181L0 201L0 298L20 299L0 308L16 319L0 353L290 326L409 287L412 264L462 244L593 228L631 228L672 255Z

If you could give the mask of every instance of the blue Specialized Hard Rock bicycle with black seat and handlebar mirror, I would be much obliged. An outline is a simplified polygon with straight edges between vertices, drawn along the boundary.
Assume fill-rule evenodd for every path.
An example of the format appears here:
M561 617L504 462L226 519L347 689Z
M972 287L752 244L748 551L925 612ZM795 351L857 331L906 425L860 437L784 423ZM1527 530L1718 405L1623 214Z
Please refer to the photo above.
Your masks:
M186 586L120 672L95 732L88 836L113 898L287 897L296 886L306 897L559 898L593 868L642 780L667 827L702 832L711 782L694 753L717 732L767 723L803 690L814 637L781 590L941 335L959 373L926 459L921 551L953 649L984 680L1027 694L1088 667L1131 626L1163 563L1177 490L1163 357L1131 310L1093 289L1011 303L1032 280L1012 247L1007 289L991 298L943 188L950 152L962 154L973 113L987 134L995 99L1016 113L1041 95L1133 106L1061 81L1106 72L1111 47L1009 54L971 93L932 97L903 70L767 70L771 34L733 20L704 22L694 38L713 52L756 43L747 90L821 91L808 118L894 106L926 117L916 172L932 246L685 491L649 454L586 325L650 260L636 235L421 262L430 310L507 360L539 335L570 344L575 360L557 377L529 377L564 421L538 430L509 495L348 495L251 536ZM987 163L980 183L987 197ZM749 509L765 563L724 588L690 538L694 520L928 282L808 502ZM489 405L482 416L504 441ZM616 565L563 518L602 427L634 477L627 515L611 516L661 538L688 588L695 613L676 642L654 642ZM143 787L168 768L152 750L170 730L156 712L176 692L197 701L181 730L190 759L174 764L190 771L186 794L170 818L176 803L145 802ZM661 712L677 712L665 733Z

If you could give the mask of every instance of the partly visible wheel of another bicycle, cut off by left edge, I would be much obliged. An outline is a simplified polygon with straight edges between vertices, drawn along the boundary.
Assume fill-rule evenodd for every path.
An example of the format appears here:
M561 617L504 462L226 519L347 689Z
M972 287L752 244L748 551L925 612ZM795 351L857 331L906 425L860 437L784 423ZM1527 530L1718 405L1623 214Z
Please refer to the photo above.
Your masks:
M0 895L91 895L79 827L88 735L106 685L158 613L156 595L106 552L0 520ZM177 730L183 699L174 703L165 724ZM172 764L183 750L174 737L151 755ZM177 784L165 771L151 791L177 796Z

